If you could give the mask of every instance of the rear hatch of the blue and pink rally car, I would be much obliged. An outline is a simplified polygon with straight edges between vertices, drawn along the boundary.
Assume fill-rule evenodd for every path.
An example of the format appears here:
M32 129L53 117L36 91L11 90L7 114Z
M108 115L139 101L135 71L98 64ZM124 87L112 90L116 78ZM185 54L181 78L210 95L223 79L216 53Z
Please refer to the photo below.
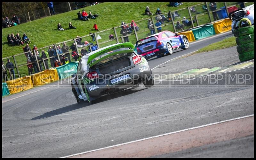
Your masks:
M151 36L145 39L140 39L136 42L137 52L142 55L144 52L156 49L158 39L155 36Z

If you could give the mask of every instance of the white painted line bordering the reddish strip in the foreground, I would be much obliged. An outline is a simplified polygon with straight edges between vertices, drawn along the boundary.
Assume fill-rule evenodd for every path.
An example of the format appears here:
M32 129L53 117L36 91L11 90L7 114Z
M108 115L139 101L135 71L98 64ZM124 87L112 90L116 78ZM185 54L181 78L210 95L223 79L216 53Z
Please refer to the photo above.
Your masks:
M117 146L121 146L121 145L124 145L124 144L144 141L144 140L147 140L147 139L152 139L152 138L156 138L156 137L160 137L160 136L171 135L171 134L174 134L174 133L179 133L179 132L183 132L183 131L187 131L187 130L191 130L191 129L198 129L198 128L202 128L202 127L206 127L206 126L211 126L211 125L214 125L214 124L219 124L219 123L228 122L228 121L234 121L234 120L238 120L238 119L242 119L242 118L247 118L247 117L251 117L251 116L254 116L254 114L253 115L246 115L246 116L238 117L238 118L233 118L233 119L229 119L229 120L225 120L225 121L209 123L209 124L205 124L205 125L197 126L197 127L192 127L192 128L188 128L188 129L182 129L182 130L179 130L179 131L165 133L165 134L158 135L158 136L142 138L142 139L139 139L139 140L135 140L135 141L131 141L131 142L126 142L126 143L121 143L121 144L116 144L116 145L113 145L113 146L108 146L108 147L104 147L104 148L100 148L100 149L96 149L96 150L89 150L89 151L86 151L86 152L76 153L76 154L73 154L73 155L69 155L69 156L65 156L65 157L60 157L60 158L68 158L68 157L77 156L77 155L81 155L81 154L85 154L85 153L89 153L89 152L94 152L94 151L97 151L97 150L104 150L104 149L107 149L107 148L117 147Z

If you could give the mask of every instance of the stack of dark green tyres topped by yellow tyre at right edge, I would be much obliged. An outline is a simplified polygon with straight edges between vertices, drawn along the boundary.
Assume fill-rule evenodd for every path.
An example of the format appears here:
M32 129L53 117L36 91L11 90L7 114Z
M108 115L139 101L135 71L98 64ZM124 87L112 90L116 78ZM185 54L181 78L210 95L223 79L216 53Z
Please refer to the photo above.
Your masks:
M254 59L254 25L234 30L234 36L236 37L236 50L239 53L240 61Z

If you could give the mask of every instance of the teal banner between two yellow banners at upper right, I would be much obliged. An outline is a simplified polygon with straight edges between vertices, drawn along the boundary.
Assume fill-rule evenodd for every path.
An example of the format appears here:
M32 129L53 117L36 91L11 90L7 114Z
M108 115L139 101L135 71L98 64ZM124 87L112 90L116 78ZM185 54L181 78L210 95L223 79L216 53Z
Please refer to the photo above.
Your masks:
M209 37L215 34L213 24L204 25L191 30L196 40Z

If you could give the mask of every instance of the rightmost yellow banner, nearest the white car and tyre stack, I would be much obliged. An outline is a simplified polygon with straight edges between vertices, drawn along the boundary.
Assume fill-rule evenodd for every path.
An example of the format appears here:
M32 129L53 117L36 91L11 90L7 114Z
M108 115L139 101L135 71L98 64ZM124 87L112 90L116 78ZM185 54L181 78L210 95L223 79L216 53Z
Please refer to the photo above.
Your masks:
M218 22L213 23L213 28L215 30L215 33L219 34L219 33L223 33L223 32L226 32L226 31L230 31L231 30L231 23L232 23L232 21L229 18L226 18L222 21L218 21Z

